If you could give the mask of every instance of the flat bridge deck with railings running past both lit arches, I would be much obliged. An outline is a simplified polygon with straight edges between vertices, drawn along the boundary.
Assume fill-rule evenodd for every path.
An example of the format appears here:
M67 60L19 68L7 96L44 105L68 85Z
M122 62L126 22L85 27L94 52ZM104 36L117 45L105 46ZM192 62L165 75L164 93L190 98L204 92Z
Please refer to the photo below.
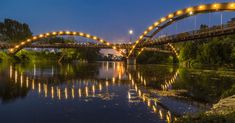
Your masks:
M196 41L197 39L205 39L211 37L218 37L224 35L235 34L235 23L224 24L213 26L210 28L194 30L190 32L183 32L175 35L164 36L160 38L154 38L147 42L143 42L138 44L136 50L142 49L146 47L146 51L156 51L156 52L165 52L171 53L170 51L161 50L156 48L155 46L164 45L168 43L178 43L178 42L186 42L186 41ZM105 45L105 44L97 44L97 43L56 43L56 44L27 44L25 48L100 48L100 49L113 49L112 47L115 46L118 49L131 49L133 44L112 44L112 45ZM10 44L0 44L0 49L9 49L14 47L14 45Z

